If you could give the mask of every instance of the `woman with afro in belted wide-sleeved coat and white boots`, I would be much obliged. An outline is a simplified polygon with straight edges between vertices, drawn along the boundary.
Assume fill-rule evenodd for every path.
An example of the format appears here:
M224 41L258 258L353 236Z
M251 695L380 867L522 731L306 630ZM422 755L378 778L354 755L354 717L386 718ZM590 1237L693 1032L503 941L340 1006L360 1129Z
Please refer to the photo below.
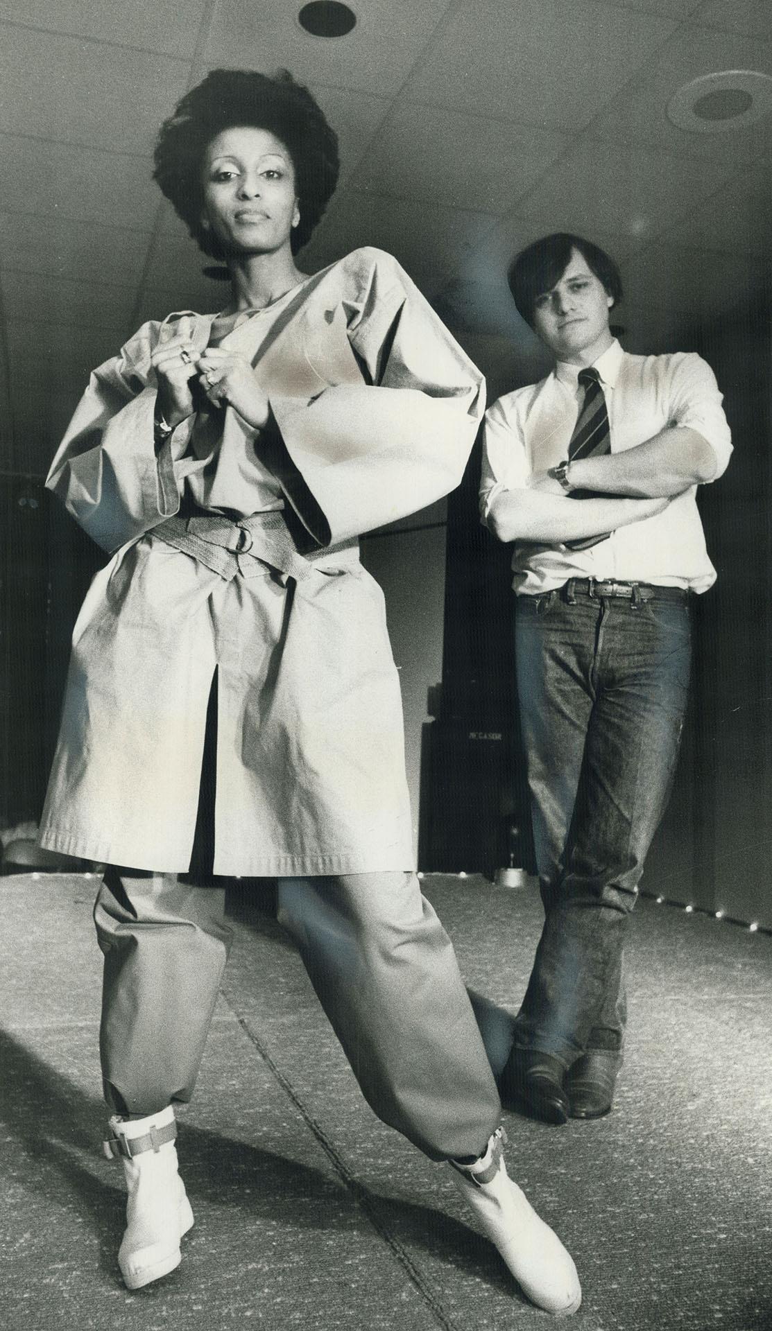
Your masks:
M100 366L48 482L116 551L76 624L43 841L109 865L95 918L118 1262L129 1288L157 1279L193 1223L172 1106L228 952L209 874L276 876L375 1113L454 1163L530 1298L572 1311L574 1263L507 1179L455 957L409 872L399 689L357 552L458 483L481 377L387 254L295 266L337 169L286 73L216 71L182 98L156 178L232 301L146 323Z

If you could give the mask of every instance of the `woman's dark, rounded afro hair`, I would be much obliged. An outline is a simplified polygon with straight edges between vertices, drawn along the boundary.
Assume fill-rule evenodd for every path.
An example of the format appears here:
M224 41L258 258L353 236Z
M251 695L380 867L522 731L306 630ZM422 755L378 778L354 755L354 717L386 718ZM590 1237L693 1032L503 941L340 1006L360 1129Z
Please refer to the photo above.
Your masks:
M224 129L265 129L288 149L295 173L301 220L293 254L306 244L338 182L338 136L322 109L286 69L213 69L161 125L153 172L161 190L205 254L224 258L216 236L201 225L206 148Z

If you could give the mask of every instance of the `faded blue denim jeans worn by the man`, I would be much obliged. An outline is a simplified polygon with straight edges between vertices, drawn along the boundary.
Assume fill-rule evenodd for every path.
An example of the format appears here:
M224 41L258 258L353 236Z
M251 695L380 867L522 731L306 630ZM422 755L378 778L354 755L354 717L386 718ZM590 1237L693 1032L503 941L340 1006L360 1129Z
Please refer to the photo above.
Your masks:
M515 660L544 928L515 1046L568 1067L622 1049L623 944L664 812L689 683L688 595L574 582L518 596ZM670 598L668 598L670 594Z

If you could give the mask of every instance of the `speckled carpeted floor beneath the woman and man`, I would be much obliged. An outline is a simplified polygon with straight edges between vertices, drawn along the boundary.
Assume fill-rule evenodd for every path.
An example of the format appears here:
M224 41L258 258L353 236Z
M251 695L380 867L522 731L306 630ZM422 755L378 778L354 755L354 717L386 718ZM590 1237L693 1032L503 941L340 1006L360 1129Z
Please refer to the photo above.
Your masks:
M100 956L87 877L0 880L0 1323L8 1331L503 1331L548 1323L446 1173L363 1105L265 898L236 945L180 1154L184 1262L129 1294L121 1175L100 1154ZM469 984L512 1009L531 889L429 878ZM504 1115L511 1174L576 1259L576 1331L772 1328L772 938L643 900L614 1113Z

